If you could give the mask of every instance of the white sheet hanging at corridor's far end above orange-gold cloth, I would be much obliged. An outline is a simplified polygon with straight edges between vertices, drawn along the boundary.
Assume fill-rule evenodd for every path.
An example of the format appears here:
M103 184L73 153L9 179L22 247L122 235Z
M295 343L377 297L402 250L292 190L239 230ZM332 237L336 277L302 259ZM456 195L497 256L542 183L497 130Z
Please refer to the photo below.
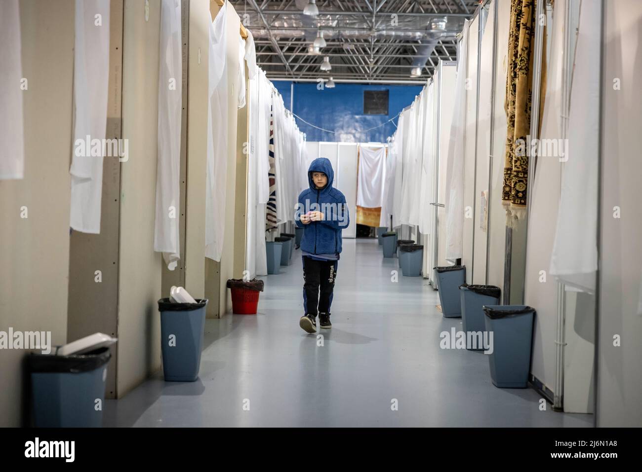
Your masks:
M364 208L381 207L386 148L359 146L359 178L357 205Z

